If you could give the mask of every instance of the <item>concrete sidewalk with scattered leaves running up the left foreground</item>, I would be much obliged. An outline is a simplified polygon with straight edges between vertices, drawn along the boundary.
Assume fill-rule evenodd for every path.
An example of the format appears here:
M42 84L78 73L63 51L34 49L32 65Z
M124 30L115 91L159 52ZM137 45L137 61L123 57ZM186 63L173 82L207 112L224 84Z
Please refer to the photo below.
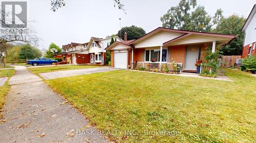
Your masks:
M15 66L15 71L0 119L1 142L108 142L25 66ZM80 130L90 134L79 135Z

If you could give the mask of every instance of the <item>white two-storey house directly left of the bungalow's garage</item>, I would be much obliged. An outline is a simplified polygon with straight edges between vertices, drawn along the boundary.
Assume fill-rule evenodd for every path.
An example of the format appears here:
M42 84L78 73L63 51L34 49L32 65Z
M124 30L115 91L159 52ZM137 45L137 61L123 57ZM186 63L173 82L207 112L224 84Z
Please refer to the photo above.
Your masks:
M123 40L118 36L113 37L117 42L122 42ZM91 37L90 42L88 43L88 52L90 54L90 63L94 65L104 65L106 59L106 50L108 43L111 42L110 38L96 38Z

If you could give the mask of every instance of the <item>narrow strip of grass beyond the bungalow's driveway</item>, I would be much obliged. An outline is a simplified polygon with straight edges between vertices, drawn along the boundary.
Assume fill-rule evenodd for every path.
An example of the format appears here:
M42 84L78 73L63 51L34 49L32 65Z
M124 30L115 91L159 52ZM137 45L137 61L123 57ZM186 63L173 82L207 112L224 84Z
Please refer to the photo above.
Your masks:
M68 65L68 66L52 66L52 67L36 67L36 68L27 68L33 74L38 75L38 73L43 72L53 72L53 71L63 71L63 70L75 70L75 69L86 69L86 68L96 68L101 66L94 65Z

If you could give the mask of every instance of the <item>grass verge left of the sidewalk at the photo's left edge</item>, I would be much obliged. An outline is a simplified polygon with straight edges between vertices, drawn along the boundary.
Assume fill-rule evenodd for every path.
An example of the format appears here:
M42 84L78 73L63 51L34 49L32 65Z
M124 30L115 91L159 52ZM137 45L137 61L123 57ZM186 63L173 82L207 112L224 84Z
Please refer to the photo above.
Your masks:
M14 74L14 69L7 69L7 70L0 70L0 77L7 76L10 78ZM10 90L10 86L8 85L8 81L5 82L5 84L0 87L0 109L2 109L4 103L5 103L5 96ZM1 112L0 112L0 119L2 118Z

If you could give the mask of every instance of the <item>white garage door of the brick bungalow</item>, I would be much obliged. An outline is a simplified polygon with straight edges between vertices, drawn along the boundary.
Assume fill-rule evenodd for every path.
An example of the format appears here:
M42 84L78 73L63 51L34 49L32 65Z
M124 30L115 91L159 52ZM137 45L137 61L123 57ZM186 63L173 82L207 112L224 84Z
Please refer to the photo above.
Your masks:
M115 68L127 69L127 52L114 53Z

